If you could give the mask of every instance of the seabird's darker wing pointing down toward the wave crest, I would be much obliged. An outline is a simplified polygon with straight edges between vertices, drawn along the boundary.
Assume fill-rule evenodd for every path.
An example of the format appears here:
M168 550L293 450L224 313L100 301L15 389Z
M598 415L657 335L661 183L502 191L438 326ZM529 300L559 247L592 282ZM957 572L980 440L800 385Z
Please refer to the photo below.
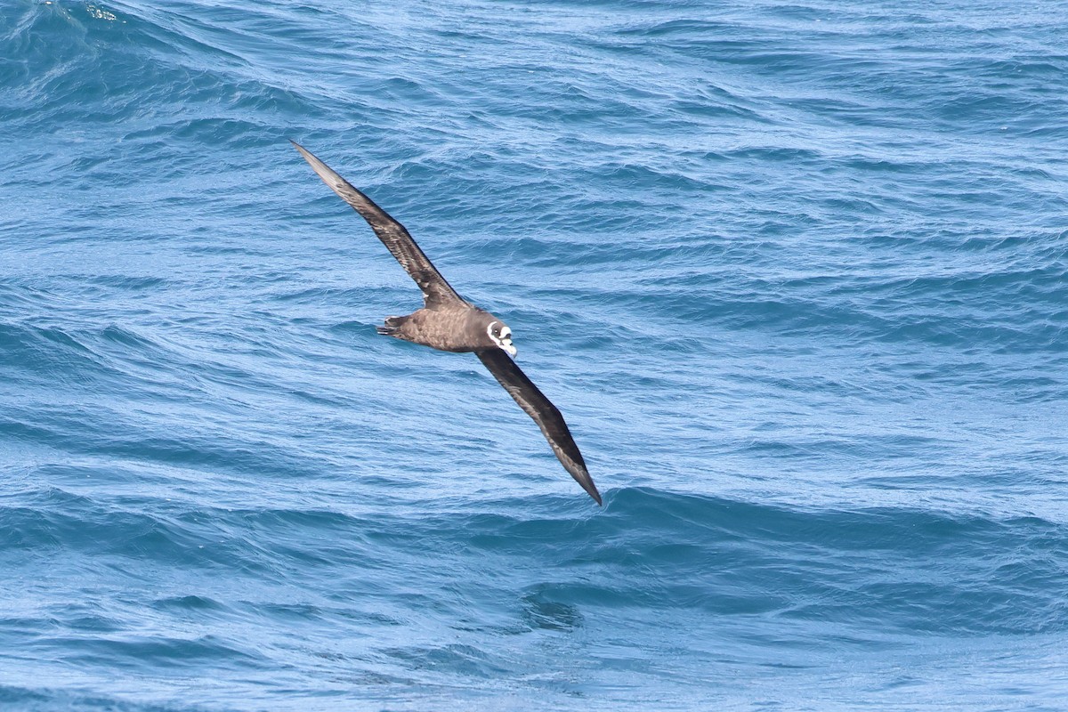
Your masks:
M590 493L597 504L601 503L600 492L586 471L586 463L582 460L582 453L579 452L571 431L567 429L564 416L560 414L556 407L545 397L537 386L527 378L527 374L519 370L519 366L507 353L501 349L486 349L475 351L478 360L489 369L493 378L504 386L519 407L528 415L534 418L537 427L541 428L541 433L552 446L552 452L556 454L564 469L571 473L575 481L582 486Z

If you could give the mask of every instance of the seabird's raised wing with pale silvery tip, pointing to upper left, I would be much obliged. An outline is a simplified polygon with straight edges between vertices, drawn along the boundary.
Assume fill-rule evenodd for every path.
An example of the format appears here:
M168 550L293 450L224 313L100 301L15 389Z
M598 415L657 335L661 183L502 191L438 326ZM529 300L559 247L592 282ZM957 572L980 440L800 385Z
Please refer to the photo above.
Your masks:
M434 266L426 254L419 249L415 240L411 238L404 225L390 217L390 215L375 205L375 202L352 187L348 180L341 177L334 171L316 158L310 151L301 146L296 141L289 141L312 169L319 174L323 183L327 184L331 190L341 195L341 199L352 206L359 212L375 235L382 241L405 271L415 280L415 284L423 290L423 300L427 306L447 302L464 302L456 290L445 282L441 272Z

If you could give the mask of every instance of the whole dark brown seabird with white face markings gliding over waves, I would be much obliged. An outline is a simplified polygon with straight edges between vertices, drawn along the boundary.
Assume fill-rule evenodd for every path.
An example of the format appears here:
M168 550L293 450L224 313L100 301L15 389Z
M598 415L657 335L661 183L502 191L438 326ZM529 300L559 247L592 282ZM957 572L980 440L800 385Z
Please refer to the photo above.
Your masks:
M600 493L586 471L564 416L512 360L516 355L516 347L507 325L456 294L404 225L303 146L295 141L290 143L323 181L367 221L386 249L423 291L423 308L408 316L387 317L384 326L378 327L378 333L442 351L473 351L508 395L541 428L564 469L600 504Z

